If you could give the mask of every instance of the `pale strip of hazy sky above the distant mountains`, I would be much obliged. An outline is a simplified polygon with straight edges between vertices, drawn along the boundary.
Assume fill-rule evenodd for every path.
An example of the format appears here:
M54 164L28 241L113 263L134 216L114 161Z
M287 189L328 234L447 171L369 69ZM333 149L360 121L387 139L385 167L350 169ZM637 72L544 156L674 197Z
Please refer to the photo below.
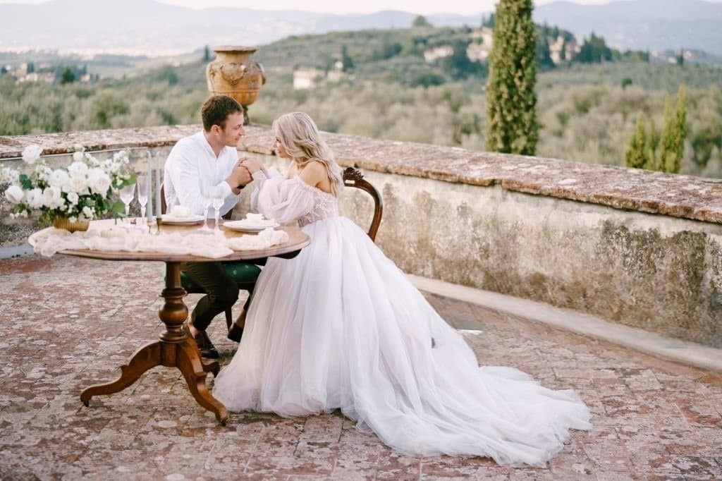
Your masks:
M0 4L38 4L47 0L0 0ZM336 14L371 13L379 10L405 10L420 14L456 13L478 14L493 9L496 0L365 0L356 6L349 6L351 2L339 0L160 0L166 4L188 6L190 8L206 8L209 6L238 6L251 9L295 9L309 12L326 12ZM537 5L548 4L554 0L534 0ZM572 0L578 4L605 4L609 0ZM679 0L684 2L684 0ZM717 3L722 0L708 0Z

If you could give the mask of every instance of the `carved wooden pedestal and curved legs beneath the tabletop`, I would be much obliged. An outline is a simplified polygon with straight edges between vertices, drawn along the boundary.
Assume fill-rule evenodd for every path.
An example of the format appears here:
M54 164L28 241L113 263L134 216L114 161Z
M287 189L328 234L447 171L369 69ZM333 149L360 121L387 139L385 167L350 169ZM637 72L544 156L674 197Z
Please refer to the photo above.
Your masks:
M204 363L195 339L186 336L181 326L188 317L188 308L183 303L186 291L181 287L181 271L177 262L166 262L165 289L162 297L165 305L158 315L165 323L166 331L160 334L160 340L151 342L131 356L128 364L121 366L121 377L106 384L96 384L82 391L80 400L86 406L90 398L100 394L114 394L123 391L142 376L145 371L157 365L178 368L188 383L188 389L198 404L216 415L216 419L225 425L228 410L217 399L212 397L206 388L206 376L219 371L217 361Z

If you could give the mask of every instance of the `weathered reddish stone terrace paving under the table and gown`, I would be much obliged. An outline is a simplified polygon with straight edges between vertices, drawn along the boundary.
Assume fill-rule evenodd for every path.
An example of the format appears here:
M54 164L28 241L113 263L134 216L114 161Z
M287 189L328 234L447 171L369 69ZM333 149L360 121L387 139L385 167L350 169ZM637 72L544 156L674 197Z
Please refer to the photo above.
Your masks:
M160 263L56 256L0 261L0 479L493 479L722 478L722 376L479 306L428 295L466 329L479 363L512 365L544 386L573 388L594 429L574 432L545 467L489 459L413 459L355 430L339 413L297 419L199 407L180 373L155 368L126 391L79 392L118 376L156 339ZM188 296L189 305L199 296ZM239 303L240 306L240 303ZM217 319L227 363L235 344Z

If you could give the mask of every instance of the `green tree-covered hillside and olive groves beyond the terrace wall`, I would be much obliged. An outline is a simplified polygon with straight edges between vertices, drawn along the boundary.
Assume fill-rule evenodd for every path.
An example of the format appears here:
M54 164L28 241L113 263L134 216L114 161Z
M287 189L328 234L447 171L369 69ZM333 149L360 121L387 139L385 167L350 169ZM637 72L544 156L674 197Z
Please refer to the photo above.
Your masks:
M483 149L484 64L456 55L423 58L435 47L478 41L471 32L366 30L264 45L256 58L268 82L250 106L251 119L270 123L281 113L305 110L326 131ZM181 66L88 84L0 76L0 135L198 123L199 106L208 95L206 62L202 52L198 56ZM336 63L338 79L294 90L295 69L323 72L336 69ZM638 113L661 126L665 97L682 83L688 87L690 132L682 173L722 177L722 69L634 61L614 52L603 63L541 69L537 155L622 165Z

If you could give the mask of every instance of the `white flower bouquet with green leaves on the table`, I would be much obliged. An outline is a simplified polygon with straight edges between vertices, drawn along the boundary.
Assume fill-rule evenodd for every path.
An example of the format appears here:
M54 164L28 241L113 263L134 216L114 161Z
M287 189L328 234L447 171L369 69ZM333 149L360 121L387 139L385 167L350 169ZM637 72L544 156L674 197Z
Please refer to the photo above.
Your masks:
M60 217L74 222L92 220L106 212L125 212L113 193L136 181L136 175L124 168L129 163L127 151L100 161L78 149L69 167L56 169L48 167L42 152L38 145L23 149L22 160L35 166L30 174L0 168L0 184L10 184L4 195L12 204L11 217L29 217L39 211L40 222L51 223Z

